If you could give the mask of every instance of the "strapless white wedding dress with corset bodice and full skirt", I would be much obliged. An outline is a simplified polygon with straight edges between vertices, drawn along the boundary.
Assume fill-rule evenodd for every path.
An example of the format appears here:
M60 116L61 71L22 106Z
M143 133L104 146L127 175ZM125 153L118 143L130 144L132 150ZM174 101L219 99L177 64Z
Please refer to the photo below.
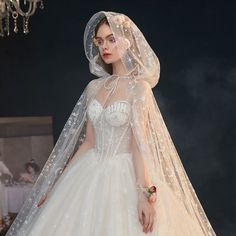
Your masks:
M138 220L129 151L130 108L126 101L107 108L91 101L88 116L94 125L95 147L65 169L25 235L147 235ZM154 231L148 235L157 236Z

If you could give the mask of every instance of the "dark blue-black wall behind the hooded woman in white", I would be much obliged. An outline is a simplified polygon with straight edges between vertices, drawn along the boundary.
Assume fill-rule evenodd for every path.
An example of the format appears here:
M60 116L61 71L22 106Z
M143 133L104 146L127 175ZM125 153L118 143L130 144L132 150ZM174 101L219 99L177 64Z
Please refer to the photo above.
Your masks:
M161 62L154 93L218 235L235 230L235 1L46 1L30 34L0 38L0 116L53 116L58 138L89 73L83 31L127 14Z

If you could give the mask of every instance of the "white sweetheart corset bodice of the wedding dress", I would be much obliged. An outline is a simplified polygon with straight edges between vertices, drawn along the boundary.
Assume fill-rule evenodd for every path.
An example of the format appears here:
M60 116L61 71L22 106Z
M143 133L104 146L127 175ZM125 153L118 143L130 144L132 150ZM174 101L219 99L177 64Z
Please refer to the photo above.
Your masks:
M102 158L110 158L130 149L130 103L118 100L103 108L93 99L88 106L88 116L95 133L95 150Z

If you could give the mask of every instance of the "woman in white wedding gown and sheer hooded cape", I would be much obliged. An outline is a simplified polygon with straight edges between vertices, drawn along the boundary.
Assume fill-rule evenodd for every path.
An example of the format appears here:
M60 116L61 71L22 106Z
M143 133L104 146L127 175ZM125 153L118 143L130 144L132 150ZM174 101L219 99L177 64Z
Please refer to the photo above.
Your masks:
M84 45L99 78L7 235L215 235L153 96L159 61L140 30L123 14L98 12Z

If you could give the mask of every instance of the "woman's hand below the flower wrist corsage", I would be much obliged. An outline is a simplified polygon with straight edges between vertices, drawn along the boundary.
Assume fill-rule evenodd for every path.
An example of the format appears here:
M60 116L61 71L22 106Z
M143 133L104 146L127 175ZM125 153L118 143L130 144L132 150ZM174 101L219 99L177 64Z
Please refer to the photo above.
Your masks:
M152 232L156 211L148 199L141 198L138 200L138 216L139 222L143 226L143 232Z

